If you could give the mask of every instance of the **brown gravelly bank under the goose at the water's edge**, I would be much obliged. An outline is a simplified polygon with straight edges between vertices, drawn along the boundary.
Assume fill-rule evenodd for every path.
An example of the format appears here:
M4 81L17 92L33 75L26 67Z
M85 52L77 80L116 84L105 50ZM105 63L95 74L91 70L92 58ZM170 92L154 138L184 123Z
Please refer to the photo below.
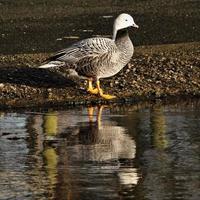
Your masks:
M102 80L106 101L86 92L86 82L66 78L65 70L38 69L49 54L0 57L0 108L64 106L178 96L200 96L200 43L141 46L117 75Z

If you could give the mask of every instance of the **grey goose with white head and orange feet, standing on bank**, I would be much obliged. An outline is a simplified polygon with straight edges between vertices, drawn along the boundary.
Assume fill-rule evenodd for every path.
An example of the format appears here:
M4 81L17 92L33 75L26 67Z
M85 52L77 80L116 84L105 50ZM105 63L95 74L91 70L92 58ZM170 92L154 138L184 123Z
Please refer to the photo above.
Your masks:
M114 21L112 39L94 37L81 40L57 52L39 68L65 67L70 72L88 80L87 91L105 99L115 96L104 94L99 79L117 74L131 59L134 48L128 28L135 27L133 18L120 14ZM93 87L96 82L96 87Z

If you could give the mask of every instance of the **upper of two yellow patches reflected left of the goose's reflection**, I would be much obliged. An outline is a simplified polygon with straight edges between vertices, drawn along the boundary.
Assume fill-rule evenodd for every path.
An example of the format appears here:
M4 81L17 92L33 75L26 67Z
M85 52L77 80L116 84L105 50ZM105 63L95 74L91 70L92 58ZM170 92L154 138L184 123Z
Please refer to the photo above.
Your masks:
M56 112L50 112L44 116L43 128L47 136L55 136L57 134L58 117Z

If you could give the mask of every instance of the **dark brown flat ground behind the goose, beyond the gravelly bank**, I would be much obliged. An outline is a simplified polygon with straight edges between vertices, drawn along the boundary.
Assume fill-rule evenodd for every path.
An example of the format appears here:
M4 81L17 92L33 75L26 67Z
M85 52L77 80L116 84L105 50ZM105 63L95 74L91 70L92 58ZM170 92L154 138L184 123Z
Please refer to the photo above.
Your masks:
M131 14L135 46L200 41L199 0L0 0L0 53L49 53L77 40L111 35Z

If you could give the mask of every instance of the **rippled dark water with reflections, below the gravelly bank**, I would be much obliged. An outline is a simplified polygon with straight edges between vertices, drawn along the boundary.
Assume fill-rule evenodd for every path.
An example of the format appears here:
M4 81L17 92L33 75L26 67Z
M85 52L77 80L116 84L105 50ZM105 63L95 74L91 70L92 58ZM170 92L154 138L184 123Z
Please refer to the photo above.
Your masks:
M200 199L200 106L0 113L0 199Z

